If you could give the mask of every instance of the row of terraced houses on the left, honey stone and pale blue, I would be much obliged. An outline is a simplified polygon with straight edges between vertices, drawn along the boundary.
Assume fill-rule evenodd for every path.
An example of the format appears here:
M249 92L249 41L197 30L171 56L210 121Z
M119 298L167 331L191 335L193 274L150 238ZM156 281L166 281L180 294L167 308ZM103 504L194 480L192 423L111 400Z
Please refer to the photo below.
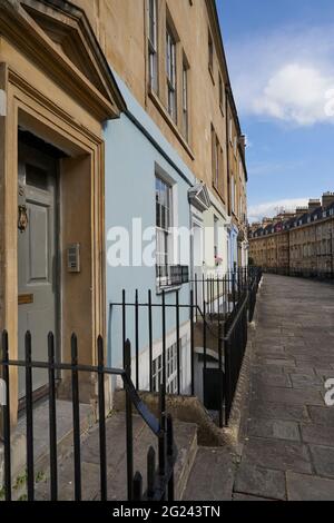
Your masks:
M247 266L246 182L214 1L0 0L0 329L12 359L29 329L36 359L53 332L68 362L76 332L81 363L96 363L101 335L121 366L129 337L138 388L157 388L165 349L168 392L189 392L191 280ZM153 329L131 307L149 300L166 307L150 310ZM48 394L45 371L32 386ZM95 387L82 378L81 401ZM11 388L16 424L21 372Z

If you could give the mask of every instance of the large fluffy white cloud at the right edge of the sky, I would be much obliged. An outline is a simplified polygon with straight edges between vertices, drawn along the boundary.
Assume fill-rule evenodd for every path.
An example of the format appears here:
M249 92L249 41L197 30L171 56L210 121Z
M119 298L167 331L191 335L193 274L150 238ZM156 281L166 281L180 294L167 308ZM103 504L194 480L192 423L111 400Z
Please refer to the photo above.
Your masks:
M296 126L334 124L333 30L282 28L227 45L240 112Z

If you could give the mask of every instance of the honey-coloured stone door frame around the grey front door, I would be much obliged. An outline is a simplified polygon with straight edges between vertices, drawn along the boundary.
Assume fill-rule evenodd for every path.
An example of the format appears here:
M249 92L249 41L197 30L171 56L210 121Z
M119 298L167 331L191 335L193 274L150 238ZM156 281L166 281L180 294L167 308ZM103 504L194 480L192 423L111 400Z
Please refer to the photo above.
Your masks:
M17 259L17 208L18 208L18 129L23 127L37 137L63 150L73 161L85 158L86 175L90 180L89 220L91 225L91 335L82 349L84 363L96 363L95 341L98 335L105 336L106 329L106 277L105 277L105 142L102 126L92 116L71 100L73 112L66 112L27 83L17 71L8 65L0 63L0 89L7 95L7 114L1 117L0 126L0 189L3 205L0 208L0 249L2 264L0 273L0 329L9 333L10 358L18 357L18 259ZM66 96L66 95L63 95ZM57 97L58 99L59 96ZM73 116L75 114L75 116ZM77 115L76 115L77 114ZM81 115L81 118L79 116ZM85 125L81 122L85 121ZM88 172L89 170L89 172ZM63 177L68 172L61 172ZM60 176L61 176L60 175ZM60 179L59 176L59 179ZM6 188L6 190L4 190ZM59 197L60 198L60 197ZM59 227L61 225L59 224ZM16 238L13 240L13 238ZM59 249L60 250L60 249ZM61 270L60 263L60 274ZM60 295L61 296L61 295ZM63 324L63 304L60 305L60 322ZM63 333L63 325L61 325ZM68 336L68 333L67 333ZM80 333L79 333L80 336ZM60 345L60 344L59 344ZM69 359L69 351L62 353ZM68 377L69 379L69 377ZM18 372L11 368L11 421L18 415ZM91 385L82 401L89 402L92 395ZM68 393L65 392L65 395Z

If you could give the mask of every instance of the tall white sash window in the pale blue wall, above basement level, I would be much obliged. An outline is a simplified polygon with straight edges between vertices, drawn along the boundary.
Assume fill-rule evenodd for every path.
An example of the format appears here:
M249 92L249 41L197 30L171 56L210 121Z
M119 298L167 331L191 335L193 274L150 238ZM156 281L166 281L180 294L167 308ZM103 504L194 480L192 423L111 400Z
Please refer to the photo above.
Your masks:
M156 233L157 233L157 276L160 284L168 277L170 263L171 187L156 177Z

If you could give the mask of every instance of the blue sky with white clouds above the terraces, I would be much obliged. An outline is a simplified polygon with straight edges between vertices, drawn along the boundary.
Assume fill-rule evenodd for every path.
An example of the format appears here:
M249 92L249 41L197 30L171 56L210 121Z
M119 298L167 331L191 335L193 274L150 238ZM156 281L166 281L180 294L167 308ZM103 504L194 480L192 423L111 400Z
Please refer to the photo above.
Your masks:
M216 0L247 137L248 217L334 191L334 0Z

